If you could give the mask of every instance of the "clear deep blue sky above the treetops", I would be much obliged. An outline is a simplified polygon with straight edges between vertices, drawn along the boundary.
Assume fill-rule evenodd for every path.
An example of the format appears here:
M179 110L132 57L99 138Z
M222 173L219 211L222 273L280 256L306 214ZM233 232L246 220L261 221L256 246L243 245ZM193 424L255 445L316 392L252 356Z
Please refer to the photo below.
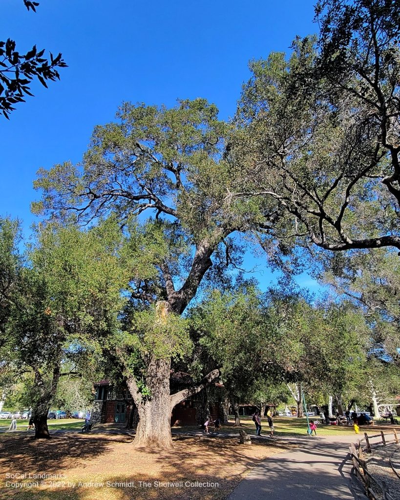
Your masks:
M34 43L61 51L69 66L48 89L34 84L35 97L10 121L0 117L0 214L21 218L26 230L35 219L36 170L79 161L93 126L112 120L123 100L173 105L205 97L226 119L251 58L287 52L296 34L317 29L314 0L38 1L37 13L22 0L1 0L0 10L0 39L15 39L21 52ZM255 276L270 278L267 270ZM300 281L316 289L306 276Z

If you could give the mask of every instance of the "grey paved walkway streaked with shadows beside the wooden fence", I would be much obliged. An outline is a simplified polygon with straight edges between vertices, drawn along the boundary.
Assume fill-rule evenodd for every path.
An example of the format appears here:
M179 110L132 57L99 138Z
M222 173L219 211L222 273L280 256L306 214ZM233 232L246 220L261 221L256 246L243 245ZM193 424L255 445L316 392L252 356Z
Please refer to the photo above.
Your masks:
M366 498L350 475L348 444L356 436L304 436L299 448L258 464L227 500L357 500Z

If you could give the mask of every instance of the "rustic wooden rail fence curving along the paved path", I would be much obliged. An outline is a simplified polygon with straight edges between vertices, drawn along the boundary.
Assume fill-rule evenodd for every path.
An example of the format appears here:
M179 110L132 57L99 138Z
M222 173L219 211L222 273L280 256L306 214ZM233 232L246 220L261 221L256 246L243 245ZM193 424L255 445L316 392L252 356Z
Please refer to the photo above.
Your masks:
M376 440L376 438L378 438L378 440ZM373 434L369 436L366 432L364 432L364 437L362 439L357 439L355 444L351 443L349 446L350 456L354 465L355 473L364 485L366 494L372 500L378 500L375 491L372 489L372 485L373 487L375 487L375 489L377 485L381 490L383 500L393 500L393 497L388 492L386 483L384 481L378 481L368 472L365 461L365 453L370 453L372 451L372 447L376 446L377 444L386 446L387 444L392 443L398 444L396 429L392 429L391 432L383 432L381 430L379 434Z

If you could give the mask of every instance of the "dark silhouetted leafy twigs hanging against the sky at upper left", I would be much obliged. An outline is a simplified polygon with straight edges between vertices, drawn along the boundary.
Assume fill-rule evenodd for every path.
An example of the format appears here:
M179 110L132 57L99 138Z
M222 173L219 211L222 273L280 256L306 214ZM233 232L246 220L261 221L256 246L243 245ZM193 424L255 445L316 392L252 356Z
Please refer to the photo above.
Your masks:
M23 0L27 10L36 12L36 1ZM50 52L50 60L43 57L44 49L37 50L36 45L25 53L15 50L15 41L8 38L0 41L0 111L8 119L14 104L24 102L25 95L33 95L30 83L37 78L47 87L47 80L59 79L57 68L66 67L61 53L55 57Z

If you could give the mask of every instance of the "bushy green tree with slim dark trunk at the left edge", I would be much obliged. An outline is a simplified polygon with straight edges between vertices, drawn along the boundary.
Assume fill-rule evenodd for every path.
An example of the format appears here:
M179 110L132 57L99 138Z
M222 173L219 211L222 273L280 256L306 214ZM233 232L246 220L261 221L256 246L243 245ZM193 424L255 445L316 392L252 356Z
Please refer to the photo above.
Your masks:
M49 437L47 413L58 382L71 371L94 371L117 326L120 272L119 229L101 224L83 232L56 224L38 227L25 253L18 226L0 219L0 299L6 305L1 335L1 371L25 386L33 408L35 437ZM117 239L115 239L115 236ZM73 370L63 371L70 361Z

